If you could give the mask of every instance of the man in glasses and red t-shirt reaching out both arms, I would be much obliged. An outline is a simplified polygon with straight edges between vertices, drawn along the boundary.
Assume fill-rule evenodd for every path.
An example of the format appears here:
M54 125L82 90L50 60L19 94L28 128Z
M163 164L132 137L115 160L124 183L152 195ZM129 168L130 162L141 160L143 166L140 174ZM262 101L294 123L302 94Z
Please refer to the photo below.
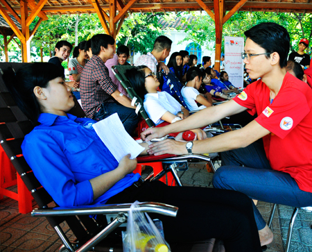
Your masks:
M275 23L262 23L245 31L243 62L248 85L231 101L205 108L182 122L148 128L141 137L148 141L168 133L200 128L229 115L248 110L258 117L239 131L206 140L150 145L148 153L222 152L222 167L214 174L214 187L236 190L251 199L303 207L312 202L312 90L286 71L290 47L288 31ZM262 138L263 146L256 141ZM254 217L261 245L273 234L256 205Z

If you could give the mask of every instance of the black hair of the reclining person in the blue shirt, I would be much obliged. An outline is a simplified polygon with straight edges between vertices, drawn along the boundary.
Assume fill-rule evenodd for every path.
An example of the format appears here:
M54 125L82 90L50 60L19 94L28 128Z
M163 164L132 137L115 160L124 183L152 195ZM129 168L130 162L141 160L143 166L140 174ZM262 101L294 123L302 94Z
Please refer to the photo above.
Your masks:
M35 122L42 113L42 107L33 92L34 87L48 87L49 81L58 77L64 78L64 72L57 65L35 62L21 67L16 73L14 69L8 69L3 74L3 81L17 106Z

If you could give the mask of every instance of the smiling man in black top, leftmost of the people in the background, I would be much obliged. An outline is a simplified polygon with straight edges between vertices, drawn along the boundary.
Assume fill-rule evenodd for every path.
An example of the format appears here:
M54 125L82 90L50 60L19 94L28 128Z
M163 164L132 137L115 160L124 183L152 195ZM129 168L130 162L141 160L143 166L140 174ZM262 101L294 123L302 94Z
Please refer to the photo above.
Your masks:
M65 73L65 69L62 66L62 62L64 60L67 60L67 58L71 55L72 49L73 46L71 45L71 43L69 43L66 40L60 40L55 44L54 56L50 58L48 62L57 65ZM67 81L65 82L65 84L68 85L69 87L74 88L79 87L79 83L77 83L76 81Z

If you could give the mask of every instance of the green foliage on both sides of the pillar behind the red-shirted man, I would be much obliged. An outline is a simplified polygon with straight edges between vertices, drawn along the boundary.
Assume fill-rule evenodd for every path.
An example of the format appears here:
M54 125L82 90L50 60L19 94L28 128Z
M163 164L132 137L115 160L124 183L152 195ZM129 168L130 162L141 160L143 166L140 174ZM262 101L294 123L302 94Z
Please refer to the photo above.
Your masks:
M185 30L187 37L184 40L193 40L200 46L214 49L211 48L211 42L216 40L214 21L204 12L202 12L202 15L198 12L193 12L192 15L196 19L191 24L188 24ZM184 22L187 22L186 20L184 19ZM236 12L224 24L223 37L244 37L244 31L263 22L275 22L284 26L291 36L291 49L293 51L297 51L298 40L301 38L306 37L309 41L311 40L312 14L275 12Z

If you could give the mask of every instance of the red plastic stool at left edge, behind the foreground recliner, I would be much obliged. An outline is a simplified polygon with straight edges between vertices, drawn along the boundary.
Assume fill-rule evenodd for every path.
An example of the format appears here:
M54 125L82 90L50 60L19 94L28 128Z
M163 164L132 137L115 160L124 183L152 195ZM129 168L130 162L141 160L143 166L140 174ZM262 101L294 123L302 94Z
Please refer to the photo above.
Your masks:
M6 189L16 184L17 193ZM12 162L10 162L10 159L0 146L0 200L3 199L3 196L8 196L18 201L21 214L26 214L33 210L33 196L31 196L31 192L28 191L23 180L15 171Z

